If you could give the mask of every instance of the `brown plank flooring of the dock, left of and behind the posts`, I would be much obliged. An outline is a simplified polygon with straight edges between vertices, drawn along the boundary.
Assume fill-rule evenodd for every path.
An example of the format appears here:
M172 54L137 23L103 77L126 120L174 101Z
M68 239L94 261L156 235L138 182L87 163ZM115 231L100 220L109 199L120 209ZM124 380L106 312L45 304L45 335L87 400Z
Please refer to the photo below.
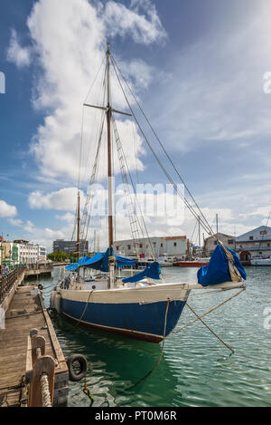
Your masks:
M33 289L33 285L18 287L6 312L5 330L0 330L0 407L20 406L25 399L22 378L26 368L27 339L33 328L45 338L46 355L57 363L56 381L58 375L67 376L68 373L42 294L33 293Z

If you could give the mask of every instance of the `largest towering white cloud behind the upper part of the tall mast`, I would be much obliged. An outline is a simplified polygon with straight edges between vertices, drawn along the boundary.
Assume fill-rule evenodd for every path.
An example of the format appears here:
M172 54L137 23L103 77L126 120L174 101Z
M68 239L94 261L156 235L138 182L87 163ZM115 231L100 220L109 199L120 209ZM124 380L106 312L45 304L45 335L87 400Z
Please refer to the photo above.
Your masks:
M46 178L61 178L66 182L68 179L72 183L78 179L82 104L105 56L108 31L115 35L130 34L137 43L164 39L164 28L155 7L150 2L147 5L142 7L138 2L132 2L128 8L110 1L95 8L87 0L39 0L33 6L28 27L35 60L42 70L35 87L33 106L50 113L37 129L32 151ZM127 68L130 76L137 75L133 79L137 89L145 88L154 73L142 60L135 59ZM101 79L100 74L97 86L91 92L91 103L102 101ZM116 77L112 77L112 86L117 86ZM120 89L113 101L117 109L126 108ZM84 111L81 175L85 179L89 179L93 165L93 154L89 155L89 151L93 153L95 150L94 142L89 147L86 140L89 142L90 136L91 140L98 140L98 132L93 128L98 128L99 116L97 110ZM128 121L119 123L119 126L124 125L130 126L125 139L129 153L129 147L134 146L133 127ZM139 156L143 153L142 140L137 134L135 140L135 154ZM127 160L130 160L129 156ZM139 167L140 164L138 159ZM135 160L131 162L131 169L133 166Z

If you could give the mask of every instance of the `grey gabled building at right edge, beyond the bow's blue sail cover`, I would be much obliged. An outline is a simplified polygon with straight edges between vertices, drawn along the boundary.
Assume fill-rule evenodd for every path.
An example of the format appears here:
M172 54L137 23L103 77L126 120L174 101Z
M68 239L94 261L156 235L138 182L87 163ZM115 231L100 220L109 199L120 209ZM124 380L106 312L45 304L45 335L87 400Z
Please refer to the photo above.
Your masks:
M237 237L236 249L241 261L271 256L271 227L260 226Z

